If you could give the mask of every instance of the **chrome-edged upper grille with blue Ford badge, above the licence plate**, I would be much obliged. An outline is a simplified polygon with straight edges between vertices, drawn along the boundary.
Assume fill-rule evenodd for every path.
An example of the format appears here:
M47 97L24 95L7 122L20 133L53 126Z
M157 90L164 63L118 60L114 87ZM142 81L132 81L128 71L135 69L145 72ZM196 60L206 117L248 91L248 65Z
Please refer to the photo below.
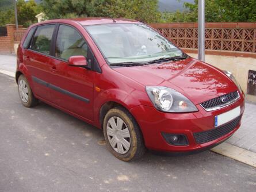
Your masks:
M210 99L208 101L202 102L201 106L204 107L205 110L207 110L207 109L211 109L213 107L225 105L225 103L223 103L221 101L221 99L224 97L226 97L226 103L228 103L230 101L233 101L233 100L239 98L239 94L238 94L238 91L235 91L232 93L228 93L226 95L221 95L220 97L216 97L214 99Z

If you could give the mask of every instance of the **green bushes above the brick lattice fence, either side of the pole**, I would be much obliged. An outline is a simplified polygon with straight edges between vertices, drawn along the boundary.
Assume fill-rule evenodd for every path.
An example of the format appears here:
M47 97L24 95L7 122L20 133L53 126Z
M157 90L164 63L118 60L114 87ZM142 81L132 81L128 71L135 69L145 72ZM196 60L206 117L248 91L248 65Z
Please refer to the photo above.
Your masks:
M197 22L198 0L184 3L184 12L163 13L162 22ZM256 0L205 0L207 22L256 21Z

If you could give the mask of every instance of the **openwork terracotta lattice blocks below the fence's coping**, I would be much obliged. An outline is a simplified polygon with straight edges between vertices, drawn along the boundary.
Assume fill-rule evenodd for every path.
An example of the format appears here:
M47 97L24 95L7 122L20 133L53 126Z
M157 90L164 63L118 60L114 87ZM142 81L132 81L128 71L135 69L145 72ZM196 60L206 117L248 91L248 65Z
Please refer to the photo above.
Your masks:
M223 23L219 23L223 24ZM239 27L239 23L228 23L229 27L224 28L221 25L217 28L205 28L205 49L217 51L236 51L236 52L250 52L256 53L256 24L244 25L250 28ZM236 25L231 25L236 24ZM244 23L243 23L244 24ZM245 23L248 24L248 23ZM158 26L159 25L159 26ZM167 37L178 47L186 49L197 49L198 30L195 24L190 27L182 26L168 26L163 27L163 24L152 24L156 30L161 32L163 36ZM184 24L183 24L184 25ZM192 26L192 27L191 27ZM213 26L213 25L212 25ZM216 26L216 25L215 25Z

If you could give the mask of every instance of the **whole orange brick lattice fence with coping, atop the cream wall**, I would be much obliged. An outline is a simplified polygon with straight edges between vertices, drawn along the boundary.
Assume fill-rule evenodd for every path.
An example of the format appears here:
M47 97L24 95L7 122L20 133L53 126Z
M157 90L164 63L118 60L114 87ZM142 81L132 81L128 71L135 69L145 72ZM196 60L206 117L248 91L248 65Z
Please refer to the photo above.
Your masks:
M197 53L197 23L150 24L188 53ZM208 22L205 49L209 55L256 58L256 22Z

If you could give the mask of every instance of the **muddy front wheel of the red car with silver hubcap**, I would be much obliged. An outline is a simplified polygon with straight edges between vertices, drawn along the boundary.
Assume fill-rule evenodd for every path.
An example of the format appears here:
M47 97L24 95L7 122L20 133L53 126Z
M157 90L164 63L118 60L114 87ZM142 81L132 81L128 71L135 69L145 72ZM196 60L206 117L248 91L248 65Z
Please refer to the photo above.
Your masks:
M115 107L106 113L103 129L106 145L116 158L128 162L141 158L146 152L139 125L123 107Z

